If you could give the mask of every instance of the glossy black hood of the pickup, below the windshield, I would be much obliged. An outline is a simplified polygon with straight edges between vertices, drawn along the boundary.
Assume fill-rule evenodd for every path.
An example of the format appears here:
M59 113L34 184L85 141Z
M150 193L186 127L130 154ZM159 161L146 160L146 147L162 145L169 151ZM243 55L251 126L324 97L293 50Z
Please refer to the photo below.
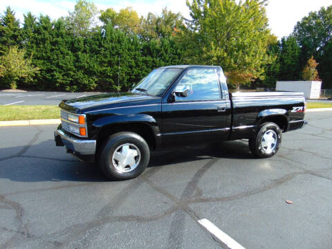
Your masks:
M159 97L135 93L106 93L84 98L75 98L73 100L62 100L59 107L67 111L82 113L94 109L126 107L156 102L160 102Z

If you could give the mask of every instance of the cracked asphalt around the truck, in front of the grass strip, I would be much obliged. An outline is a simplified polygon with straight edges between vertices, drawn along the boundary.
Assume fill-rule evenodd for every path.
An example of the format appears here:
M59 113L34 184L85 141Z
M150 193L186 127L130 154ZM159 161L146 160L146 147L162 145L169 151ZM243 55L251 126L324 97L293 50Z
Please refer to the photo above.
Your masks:
M0 248L225 248L201 219L244 248L331 248L332 112L306 120L273 158L223 142L117 182L55 147L55 125L0 127Z

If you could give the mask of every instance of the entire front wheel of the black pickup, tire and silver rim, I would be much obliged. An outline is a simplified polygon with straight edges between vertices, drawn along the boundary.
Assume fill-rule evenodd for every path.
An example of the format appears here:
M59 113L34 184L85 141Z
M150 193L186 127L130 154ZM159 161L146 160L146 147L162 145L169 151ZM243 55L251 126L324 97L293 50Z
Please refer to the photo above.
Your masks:
M133 132L113 134L100 147L98 153L102 172L116 180L128 180L139 176L149 164L149 159L149 145Z

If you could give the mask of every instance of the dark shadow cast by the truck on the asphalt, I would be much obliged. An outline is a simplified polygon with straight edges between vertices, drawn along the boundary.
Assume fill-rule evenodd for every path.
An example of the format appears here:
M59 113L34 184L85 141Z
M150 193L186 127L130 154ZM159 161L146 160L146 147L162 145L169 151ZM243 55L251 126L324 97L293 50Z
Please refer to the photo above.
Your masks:
M251 159L248 145L242 141L220 142L198 147L184 147L151 153L148 167L172 167L177 163L192 164L207 158ZM109 181L95 163L83 163L53 140L37 145L0 149L0 178L18 182L39 181Z

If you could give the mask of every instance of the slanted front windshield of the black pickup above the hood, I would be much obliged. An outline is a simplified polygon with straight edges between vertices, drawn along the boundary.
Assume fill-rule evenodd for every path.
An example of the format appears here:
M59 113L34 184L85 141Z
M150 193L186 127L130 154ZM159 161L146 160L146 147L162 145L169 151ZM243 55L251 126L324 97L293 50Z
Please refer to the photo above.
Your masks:
M131 92L154 96L162 95L181 71L182 69L180 68L154 69L154 71L141 80Z

